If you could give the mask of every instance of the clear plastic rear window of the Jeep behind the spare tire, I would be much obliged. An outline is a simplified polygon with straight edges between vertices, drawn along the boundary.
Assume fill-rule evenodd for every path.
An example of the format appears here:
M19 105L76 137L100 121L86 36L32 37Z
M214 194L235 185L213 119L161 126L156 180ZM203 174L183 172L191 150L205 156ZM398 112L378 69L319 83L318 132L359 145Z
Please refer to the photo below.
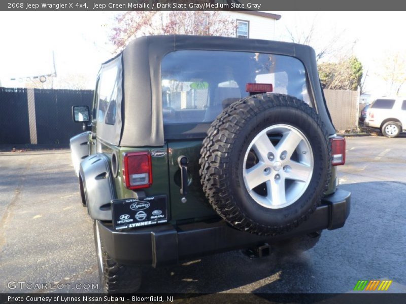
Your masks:
M310 104L306 72L296 58L249 52L176 51L161 65L164 124L212 122L249 96L247 83L272 84L275 93Z

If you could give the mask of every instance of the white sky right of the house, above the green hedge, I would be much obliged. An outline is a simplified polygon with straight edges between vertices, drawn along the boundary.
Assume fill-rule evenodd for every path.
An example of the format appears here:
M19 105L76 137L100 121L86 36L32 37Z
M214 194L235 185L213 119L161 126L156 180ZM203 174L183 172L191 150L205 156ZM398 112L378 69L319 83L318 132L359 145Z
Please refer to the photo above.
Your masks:
M348 46L364 67L365 90L371 95L385 94L385 83L379 73L382 62L391 52L402 52L406 56L404 20L406 12L277 12L282 18L277 21L276 32L296 25L310 28L315 22L319 39L339 36L337 45ZM284 37L280 37L284 40ZM285 36L286 39L286 36ZM317 42L317 37L314 39ZM333 58L328 58L333 60ZM406 94L403 88L403 94Z

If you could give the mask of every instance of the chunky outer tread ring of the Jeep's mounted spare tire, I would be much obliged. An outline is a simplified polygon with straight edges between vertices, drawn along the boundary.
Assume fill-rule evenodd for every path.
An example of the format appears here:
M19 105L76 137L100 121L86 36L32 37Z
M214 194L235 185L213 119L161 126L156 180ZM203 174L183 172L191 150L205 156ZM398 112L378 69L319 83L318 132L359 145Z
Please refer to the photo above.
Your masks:
M303 115L311 117L322 130L329 151L328 168L326 168L328 173L323 190L317 195L309 210L295 221L281 226L267 226L254 222L234 203L234 198L228 191L227 177L230 171L228 164L230 163L230 151L235 139L248 121L261 116L266 109L271 107L296 108L302 111ZM331 144L324 123L316 111L308 104L284 94L260 94L246 97L224 109L213 121L207 134L200 150L200 182L213 209L236 229L256 235L282 234L306 221L317 206L320 205L331 179Z

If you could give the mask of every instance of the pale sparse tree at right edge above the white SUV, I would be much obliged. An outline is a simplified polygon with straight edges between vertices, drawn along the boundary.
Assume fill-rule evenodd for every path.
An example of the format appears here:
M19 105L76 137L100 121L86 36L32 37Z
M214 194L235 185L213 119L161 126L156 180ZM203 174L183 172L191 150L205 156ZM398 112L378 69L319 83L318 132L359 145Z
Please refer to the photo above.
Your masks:
M378 76L386 83L389 95L399 95L399 91L406 83L406 56L402 52L390 52L381 61L381 71Z

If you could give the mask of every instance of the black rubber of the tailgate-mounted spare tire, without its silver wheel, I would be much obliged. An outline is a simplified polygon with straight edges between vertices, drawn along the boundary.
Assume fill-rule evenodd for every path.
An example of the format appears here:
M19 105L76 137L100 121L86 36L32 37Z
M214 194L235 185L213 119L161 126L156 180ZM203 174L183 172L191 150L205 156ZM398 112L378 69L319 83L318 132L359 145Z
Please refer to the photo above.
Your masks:
M276 124L291 125L307 137L314 169L298 200L269 209L248 194L242 168L251 140ZM214 210L236 229L256 235L282 234L306 221L320 205L331 179L331 143L321 118L308 104L283 94L250 96L225 108L207 134L200 151L200 181Z

